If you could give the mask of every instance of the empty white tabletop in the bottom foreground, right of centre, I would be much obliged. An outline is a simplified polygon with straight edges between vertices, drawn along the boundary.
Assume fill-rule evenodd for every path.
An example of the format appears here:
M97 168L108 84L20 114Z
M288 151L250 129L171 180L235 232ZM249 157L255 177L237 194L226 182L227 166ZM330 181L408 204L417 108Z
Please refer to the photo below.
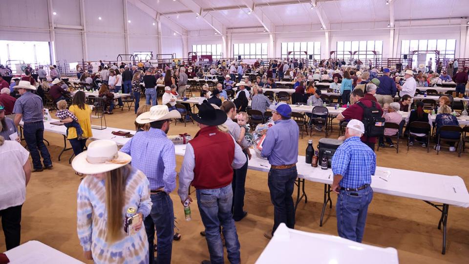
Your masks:
M312 254L311 250L320 254ZM399 258L392 247L382 248L337 236L299 231L280 223L256 261L256 264L272 263L398 264Z

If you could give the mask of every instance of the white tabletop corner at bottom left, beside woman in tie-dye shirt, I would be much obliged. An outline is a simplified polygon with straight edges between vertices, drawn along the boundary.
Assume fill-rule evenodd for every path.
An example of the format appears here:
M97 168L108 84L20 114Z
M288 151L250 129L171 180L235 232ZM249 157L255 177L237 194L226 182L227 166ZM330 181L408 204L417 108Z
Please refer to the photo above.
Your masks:
M5 252L10 264L85 264L39 241L28 241Z

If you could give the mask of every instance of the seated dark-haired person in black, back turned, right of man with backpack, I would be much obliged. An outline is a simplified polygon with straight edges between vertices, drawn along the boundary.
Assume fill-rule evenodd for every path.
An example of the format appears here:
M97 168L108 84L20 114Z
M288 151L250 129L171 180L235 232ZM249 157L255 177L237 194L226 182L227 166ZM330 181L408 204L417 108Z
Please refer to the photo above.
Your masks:
M424 103L422 101L417 102L417 109L411 110L409 115L405 118L405 122L407 123L407 127L405 129L406 132L410 133L409 138L409 145L414 145L414 140L417 138L419 142L422 142L422 147L426 147L426 137L428 130L420 129L420 128L410 128L410 124L412 122L426 122L432 125L431 118L428 117L428 113L424 112Z

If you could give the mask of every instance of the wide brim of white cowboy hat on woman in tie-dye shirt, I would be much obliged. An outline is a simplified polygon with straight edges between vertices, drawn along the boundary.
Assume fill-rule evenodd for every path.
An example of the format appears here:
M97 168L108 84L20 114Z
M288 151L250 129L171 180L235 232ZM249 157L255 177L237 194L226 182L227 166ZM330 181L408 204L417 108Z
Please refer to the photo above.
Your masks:
M84 151L78 154L72 161L72 168L81 174L90 175L90 174L98 174L98 173L105 173L110 172L112 170L118 169L120 167L124 167L132 160L130 155L125 154L123 152L117 152L119 157L116 159L117 162L105 162L105 163L89 163L86 160L86 153Z

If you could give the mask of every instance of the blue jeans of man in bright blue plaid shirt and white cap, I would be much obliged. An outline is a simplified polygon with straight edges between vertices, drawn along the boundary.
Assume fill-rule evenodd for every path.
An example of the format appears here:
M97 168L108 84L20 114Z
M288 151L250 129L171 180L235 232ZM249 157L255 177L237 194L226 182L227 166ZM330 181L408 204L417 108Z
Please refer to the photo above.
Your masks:
M336 203L337 232L341 238L362 242L371 199L370 186L356 192L341 190Z

